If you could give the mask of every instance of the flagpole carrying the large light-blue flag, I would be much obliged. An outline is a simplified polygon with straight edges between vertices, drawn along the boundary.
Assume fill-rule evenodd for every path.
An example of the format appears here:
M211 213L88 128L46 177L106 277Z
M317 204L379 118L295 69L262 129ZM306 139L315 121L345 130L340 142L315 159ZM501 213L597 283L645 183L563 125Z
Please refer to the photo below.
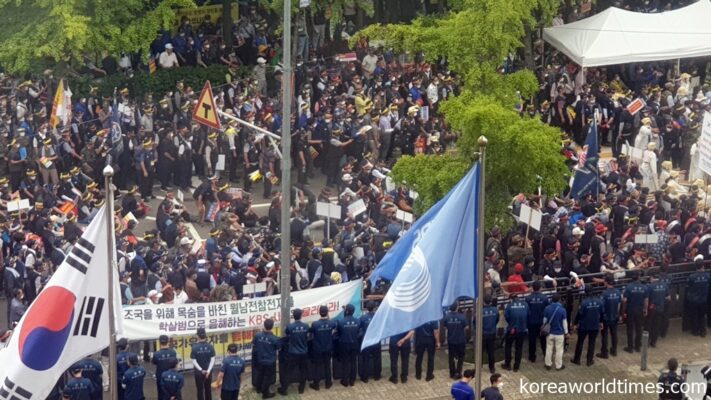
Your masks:
M479 136L479 206L477 214L477 260L476 260L476 337L474 342L474 360L476 361L476 388L481 393L481 381L484 375L484 331L482 329L484 320L484 200L485 193L485 172L486 172L486 145L489 141L484 136Z

